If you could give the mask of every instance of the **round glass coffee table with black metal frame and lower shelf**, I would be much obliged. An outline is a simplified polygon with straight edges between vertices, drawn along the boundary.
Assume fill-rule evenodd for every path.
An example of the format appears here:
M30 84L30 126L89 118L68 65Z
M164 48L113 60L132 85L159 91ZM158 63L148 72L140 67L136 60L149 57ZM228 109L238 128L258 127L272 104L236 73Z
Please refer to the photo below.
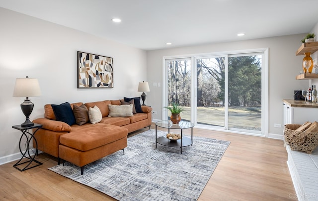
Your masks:
M178 139L176 141L171 141L165 136L157 137L157 126L161 128L167 128L168 133L170 133L170 129L180 129L181 130L181 139ZM164 120L164 121L158 121L156 122L156 149L157 149L157 143L168 146L168 147L180 147L181 149L181 154L182 154L182 147L186 146L192 146L193 141L192 141L192 134L193 134L193 126L194 124L189 122L189 121L183 121L181 120L179 124L172 124L172 121L170 120ZM191 128L191 139L188 137L183 137L182 136L182 130Z

